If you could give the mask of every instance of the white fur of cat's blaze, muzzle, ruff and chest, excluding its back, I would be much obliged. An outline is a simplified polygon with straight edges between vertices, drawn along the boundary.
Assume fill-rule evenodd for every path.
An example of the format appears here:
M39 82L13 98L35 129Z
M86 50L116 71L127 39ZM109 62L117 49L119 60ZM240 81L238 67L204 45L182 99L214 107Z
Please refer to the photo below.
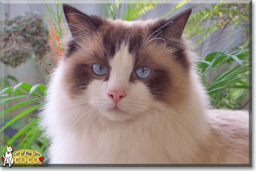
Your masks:
M187 98L170 108L155 101L143 83L129 82L133 64L122 46L110 61L109 80L93 80L71 100L63 84L65 62L60 62L41 113L51 138L50 163L184 164L197 158L198 142L206 144L210 136L208 97L197 74L189 73ZM111 111L113 89L126 92L118 103L121 111Z

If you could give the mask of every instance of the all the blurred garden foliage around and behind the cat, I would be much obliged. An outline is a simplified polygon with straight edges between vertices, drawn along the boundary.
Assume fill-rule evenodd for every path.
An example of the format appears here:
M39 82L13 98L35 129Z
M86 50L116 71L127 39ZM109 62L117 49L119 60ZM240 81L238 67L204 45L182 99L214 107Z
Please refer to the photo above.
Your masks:
M175 11L180 11L190 0L181 0L173 9L161 17L168 17ZM122 4L121 0L111 4L101 5L101 15L106 18L122 19L126 21L137 20L141 16L153 11L159 4ZM63 42L67 36L65 20L62 21L61 0L55 4L45 5L46 24L40 15L26 13L4 22L4 31L1 39L4 40L4 57L1 61L6 65L16 67L27 58L33 58L37 64L50 74L58 65L63 54ZM57 9L57 10L55 10ZM198 61L198 74L210 95L211 102L216 109L243 109L251 100L249 84L251 78L251 56L249 51L249 4L210 4L207 7L193 12L187 22L184 36L195 42L195 51L200 51L205 44L212 46L226 41L232 37L221 51L209 51ZM222 35L227 28L232 28L225 36ZM239 29L239 32L236 32ZM234 33L238 33L234 36ZM239 40L245 35L244 41ZM234 42L240 41L234 46ZM15 83L11 86L10 82ZM37 125L39 118L35 114L39 107L44 105L46 86L44 84L31 85L20 83L15 76L5 76L1 79L0 115L4 118L0 129L2 151L6 145L11 144L14 151L20 149L33 149L45 155L47 140L41 136ZM19 100L19 101L17 101ZM10 102L14 105L10 106ZM12 103L12 104L13 104ZM10 112L22 108L22 112L8 117ZM26 117L27 116L27 117ZM25 119L24 119L25 118ZM47 163L47 159L44 160Z

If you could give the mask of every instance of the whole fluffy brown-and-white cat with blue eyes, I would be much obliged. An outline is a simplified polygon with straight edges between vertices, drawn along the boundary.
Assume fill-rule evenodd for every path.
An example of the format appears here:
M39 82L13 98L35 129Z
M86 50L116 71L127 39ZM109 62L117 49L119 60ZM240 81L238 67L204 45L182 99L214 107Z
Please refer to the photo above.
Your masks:
M42 125L51 164L249 164L249 114L213 110L171 19L126 22L63 5L70 40Z

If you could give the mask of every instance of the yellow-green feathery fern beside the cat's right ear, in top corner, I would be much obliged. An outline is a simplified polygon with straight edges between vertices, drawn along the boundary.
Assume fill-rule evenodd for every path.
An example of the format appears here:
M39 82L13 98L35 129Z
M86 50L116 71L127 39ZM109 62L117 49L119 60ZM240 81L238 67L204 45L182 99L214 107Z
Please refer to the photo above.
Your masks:
M205 7L204 11L199 10L198 13L191 15L184 31L189 33L186 35L188 38L195 37L196 35L199 36L196 40L196 45L198 45L211 32L234 25L232 31L227 36L227 38L230 38L239 24L249 24L249 4L218 3L211 4L211 8ZM246 41L245 44L248 45L249 41Z

